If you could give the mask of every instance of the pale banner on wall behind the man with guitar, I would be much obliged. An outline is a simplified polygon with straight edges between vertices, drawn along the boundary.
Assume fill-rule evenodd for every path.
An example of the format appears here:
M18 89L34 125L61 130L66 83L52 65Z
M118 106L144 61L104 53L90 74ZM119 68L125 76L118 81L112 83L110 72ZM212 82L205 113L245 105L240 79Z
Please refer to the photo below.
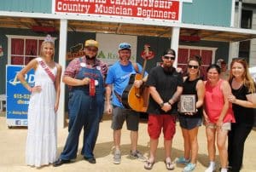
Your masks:
M96 41L99 43L98 58L108 65L119 60L119 43L124 42L131 44L131 61L137 60L137 36L96 33Z

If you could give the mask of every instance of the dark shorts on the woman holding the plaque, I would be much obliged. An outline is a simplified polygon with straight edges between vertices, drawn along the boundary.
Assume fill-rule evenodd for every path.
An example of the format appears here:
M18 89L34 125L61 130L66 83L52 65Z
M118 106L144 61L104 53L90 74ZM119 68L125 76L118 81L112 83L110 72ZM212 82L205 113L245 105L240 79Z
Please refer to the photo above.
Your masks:
M185 115L178 115L179 125L183 129L195 129L201 126L202 118L191 118Z

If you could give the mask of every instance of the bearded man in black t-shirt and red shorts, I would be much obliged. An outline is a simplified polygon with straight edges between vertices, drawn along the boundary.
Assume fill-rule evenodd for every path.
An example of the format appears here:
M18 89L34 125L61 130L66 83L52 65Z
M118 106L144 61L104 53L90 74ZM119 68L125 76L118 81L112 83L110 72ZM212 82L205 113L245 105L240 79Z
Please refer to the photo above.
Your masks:
M183 91L183 77L173 67L175 51L166 49L161 57L162 65L154 67L148 75L150 97L148 105L148 135L150 155L144 169L152 169L161 129L164 133L166 169L174 169L171 160L172 138L175 134L177 100Z

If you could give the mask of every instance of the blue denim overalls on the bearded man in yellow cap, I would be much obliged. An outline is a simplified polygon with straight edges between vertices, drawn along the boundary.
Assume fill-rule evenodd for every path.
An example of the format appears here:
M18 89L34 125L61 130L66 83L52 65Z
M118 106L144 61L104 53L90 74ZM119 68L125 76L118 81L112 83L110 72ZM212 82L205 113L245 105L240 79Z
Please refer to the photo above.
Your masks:
M83 63L82 58L79 59ZM61 159L70 160L77 157L79 134L84 127L84 145L81 154L84 158L94 158L93 150L96 145L99 123L104 108L104 81L100 66L80 67L77 79L89 77L97 80L96 94L90 96L89 85L73 86L72 95L68 101L69 134L66 145L61 153Z

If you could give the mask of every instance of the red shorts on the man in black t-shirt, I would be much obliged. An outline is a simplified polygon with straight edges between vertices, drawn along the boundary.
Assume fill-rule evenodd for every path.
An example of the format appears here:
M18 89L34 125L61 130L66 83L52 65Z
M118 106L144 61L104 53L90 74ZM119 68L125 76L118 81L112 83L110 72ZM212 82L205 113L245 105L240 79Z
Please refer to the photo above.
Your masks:
M165 140L172 140L175 134L176 116L148 114L148 135L151 139L158 139L163 128Z

